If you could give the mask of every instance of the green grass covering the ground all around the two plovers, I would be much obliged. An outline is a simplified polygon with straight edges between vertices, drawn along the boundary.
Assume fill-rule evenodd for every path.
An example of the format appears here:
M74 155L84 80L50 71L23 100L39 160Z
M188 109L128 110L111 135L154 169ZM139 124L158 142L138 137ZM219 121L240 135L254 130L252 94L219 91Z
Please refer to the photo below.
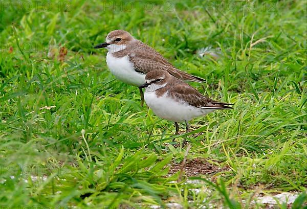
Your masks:
M305 1L8 2L0 3L2 207L262 208L251 205L257 194L306 191ZM187 159L229 170L194 177L198 184L168 174L186 151L170 143L173 124L141 107L138 89L93 49L114 29L207 79L191 84L203 94L234 104L177 137L190 141ZM208 46L218 59L198 56Z

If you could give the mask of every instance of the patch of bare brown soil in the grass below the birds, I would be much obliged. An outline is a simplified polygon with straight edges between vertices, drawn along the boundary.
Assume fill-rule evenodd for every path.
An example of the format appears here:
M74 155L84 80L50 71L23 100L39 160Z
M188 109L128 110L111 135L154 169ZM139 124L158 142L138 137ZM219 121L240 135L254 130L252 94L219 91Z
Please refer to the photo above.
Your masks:
M173 164L169 169L169 174L174 174L181 170L182 163ZM210 164L207 160L202 158L194 158L188 160L183 167L185 175L187 176L198 176L204 174L213 174L217 172L227 171L228 167L220 168Z

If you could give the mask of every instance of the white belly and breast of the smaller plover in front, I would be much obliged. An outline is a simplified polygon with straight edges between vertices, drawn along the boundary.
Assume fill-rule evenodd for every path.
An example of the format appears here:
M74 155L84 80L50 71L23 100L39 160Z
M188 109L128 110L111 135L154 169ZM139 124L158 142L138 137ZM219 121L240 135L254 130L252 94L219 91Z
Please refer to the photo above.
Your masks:
M213 111L212 109L201 109L184 102L178 102L170 97L167 97L167 93L158 98L155 92L145 91L144 99L146 104L160 118L174 122L183 122L185 120L189 121L192 118L205 115Z

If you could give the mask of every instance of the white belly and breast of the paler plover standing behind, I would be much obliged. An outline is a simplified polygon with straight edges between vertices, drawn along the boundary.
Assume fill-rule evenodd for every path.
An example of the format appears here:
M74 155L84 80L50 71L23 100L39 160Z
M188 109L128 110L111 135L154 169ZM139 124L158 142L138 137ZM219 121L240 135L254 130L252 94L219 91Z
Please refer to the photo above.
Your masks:
M129 57L113 57L112 53L107 53L106 64L111 73L124 83L140 86L145 83L145 74L135 71L134 65L129 61Z

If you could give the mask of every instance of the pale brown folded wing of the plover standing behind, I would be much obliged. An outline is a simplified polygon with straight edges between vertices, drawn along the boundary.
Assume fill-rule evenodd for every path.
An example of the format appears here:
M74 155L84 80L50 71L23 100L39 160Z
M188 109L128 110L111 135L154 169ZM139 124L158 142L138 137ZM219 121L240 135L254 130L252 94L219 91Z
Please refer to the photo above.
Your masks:
M137 72L147 74L154 69L162 69L172 76L187 81L204 82L205 79L180 71L170 64L161 54L148 45L138 41L130 50L129 60L134 63Z

